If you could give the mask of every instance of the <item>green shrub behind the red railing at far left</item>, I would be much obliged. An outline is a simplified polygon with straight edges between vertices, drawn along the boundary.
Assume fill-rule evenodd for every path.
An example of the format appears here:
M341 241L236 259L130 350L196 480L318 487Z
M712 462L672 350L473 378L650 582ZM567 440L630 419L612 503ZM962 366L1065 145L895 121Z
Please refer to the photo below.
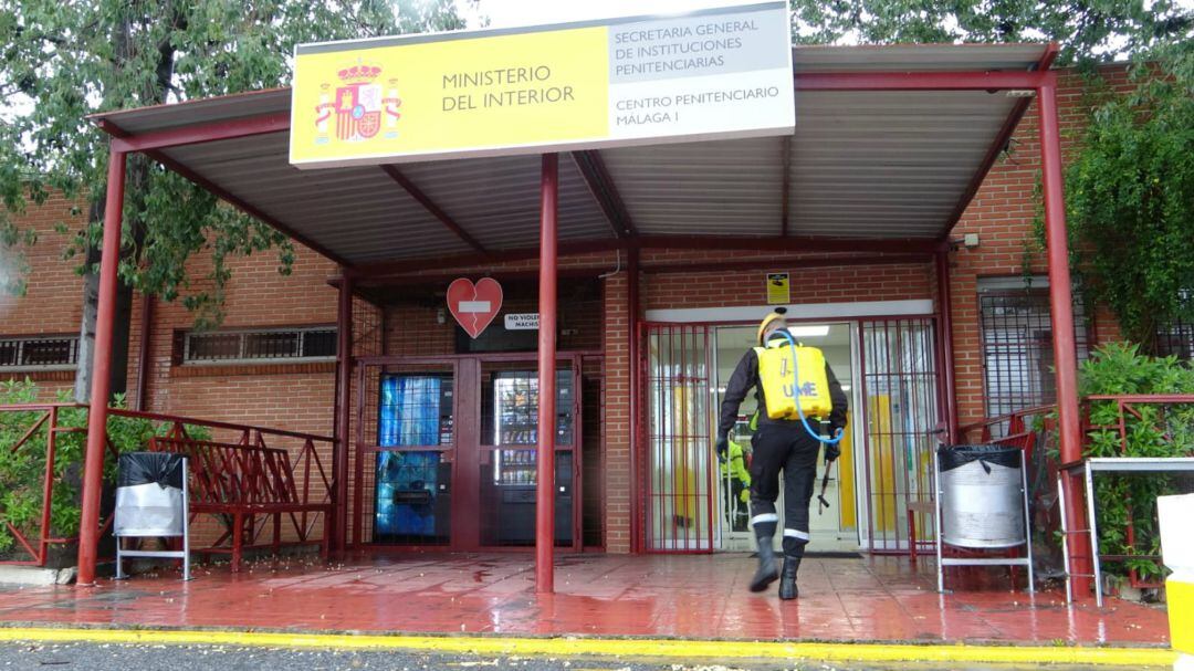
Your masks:
M5 407L33 404L37 398L37 384L27 378L0 383L0 558L29 559L10 533L8 524L18 529L31 543L36 543L41 534L49 423L42 424L32 432L30 430L47 413ZM123 405L124 399L117 399L113 404L115 407ZM50 535L73 537L79 533L79 494L86 447L86 432L81 430L87 426L87 410L61 408L59 426L66 430L60 430L55 436ZM118 451L144 449L149 438L160 431L162 427L147 419L110 415L107 420L109 437ZM116 460L105 460L104 474L107 480L115 480Z

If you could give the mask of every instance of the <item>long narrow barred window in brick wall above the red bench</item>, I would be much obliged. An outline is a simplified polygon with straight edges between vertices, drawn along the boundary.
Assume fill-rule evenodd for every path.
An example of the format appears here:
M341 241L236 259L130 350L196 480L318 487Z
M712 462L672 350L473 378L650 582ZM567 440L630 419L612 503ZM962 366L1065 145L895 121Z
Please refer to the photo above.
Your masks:
M191 331L183 338L183 363L263 363L334 358L334 326Z

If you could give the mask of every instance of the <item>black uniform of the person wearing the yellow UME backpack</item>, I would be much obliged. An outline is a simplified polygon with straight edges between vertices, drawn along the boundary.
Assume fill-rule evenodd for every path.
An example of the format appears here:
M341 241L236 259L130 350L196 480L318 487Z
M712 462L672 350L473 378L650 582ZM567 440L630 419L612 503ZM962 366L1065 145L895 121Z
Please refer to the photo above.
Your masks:
M777 336L782 338L782 336ZM833 407L829 414L830 436L845 427L847 398L829 364L830 399ZM738 362L738 368L726 384L721 401L721 418L718 438L725 439L738 420L738 407L751 388L758 400L758 431L751 444L753 457L750 463L751 527L759 543L770 543L778 528L780 516L775 501L780 497L780 472L783 472L783 554L801 558L808 544L808 504L817 481L817 454L821 443L808 435L799 419L771 419L767 415L767 399L758 377L758 355L749 350ZM808 418L814 431L819 429L814 418Z

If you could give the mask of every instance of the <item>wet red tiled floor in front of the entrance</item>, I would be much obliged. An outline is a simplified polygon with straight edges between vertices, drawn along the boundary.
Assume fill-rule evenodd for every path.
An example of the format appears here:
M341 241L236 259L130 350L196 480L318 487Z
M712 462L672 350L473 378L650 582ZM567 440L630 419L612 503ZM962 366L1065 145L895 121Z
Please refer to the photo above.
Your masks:
M801 598L752 595L746 555L567 555L555 595L534 591L525 554L394 555L326 566L263 561L199 567L96 587L0 587L0 622L743 640L1168 646L1163 608L1067 607L1007 580L938 595L930 562L808 559Z

